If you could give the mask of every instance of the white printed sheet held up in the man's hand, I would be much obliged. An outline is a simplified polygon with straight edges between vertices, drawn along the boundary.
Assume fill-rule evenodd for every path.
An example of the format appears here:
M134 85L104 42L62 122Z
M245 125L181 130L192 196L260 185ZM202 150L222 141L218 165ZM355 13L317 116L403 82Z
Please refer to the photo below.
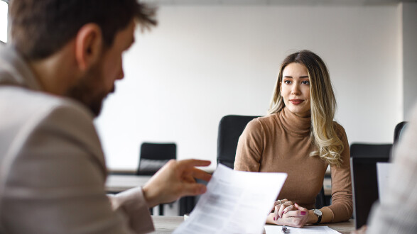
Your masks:
M219 165L190 217L174 233L262 233L286 173L238 172Z

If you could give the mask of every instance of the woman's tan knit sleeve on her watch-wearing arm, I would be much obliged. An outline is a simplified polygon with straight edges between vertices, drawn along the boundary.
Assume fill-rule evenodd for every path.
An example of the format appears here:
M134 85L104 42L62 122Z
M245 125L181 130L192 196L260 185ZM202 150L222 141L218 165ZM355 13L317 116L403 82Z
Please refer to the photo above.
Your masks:
M347 142L345 129L336 124L336 130L345 148L341 154L342 164L340 167L330 167L332 172L332 204L327 207L332 211L332 222L347 221L353 213L349 143Z

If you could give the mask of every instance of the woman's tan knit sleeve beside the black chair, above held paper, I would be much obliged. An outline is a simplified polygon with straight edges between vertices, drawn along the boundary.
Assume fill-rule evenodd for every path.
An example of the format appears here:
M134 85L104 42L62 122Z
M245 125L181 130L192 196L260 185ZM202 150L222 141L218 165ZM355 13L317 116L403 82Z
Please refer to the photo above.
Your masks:
M259 172L261 155L264 149L264 133L258 119L250 121L240 135L237 143L234 169L238 171Z

